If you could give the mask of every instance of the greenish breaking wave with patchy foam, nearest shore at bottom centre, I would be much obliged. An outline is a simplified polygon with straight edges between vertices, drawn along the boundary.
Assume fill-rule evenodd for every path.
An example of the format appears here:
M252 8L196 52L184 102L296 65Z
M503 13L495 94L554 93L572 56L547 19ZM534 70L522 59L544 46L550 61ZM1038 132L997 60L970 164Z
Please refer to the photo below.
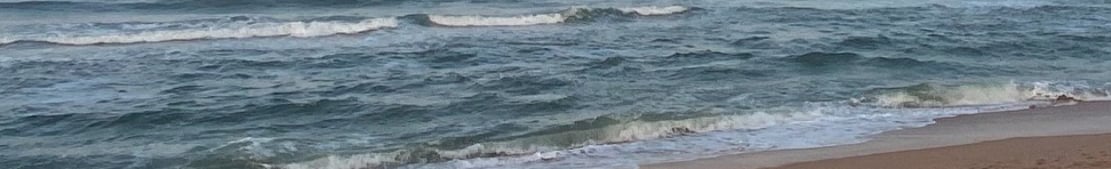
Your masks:
M397 168L411 163L441 162L450 160L506 157L536 156L534 160L560 158L561 150L583 148L594 145L631 142L644 139L692 135L714 130L762 129L791 121L818 119L818 112L717 115L690 117L681 120L661 120L658 117L640 116L633 118L599 117L575 121L572 125L558 126L547 130L534 131L519 137L504 138L488 142L474 142L457 149L436 148L438 145L424 145L382 153L333 155L314 160L266 165L279 169L362 169L362 168ZM630 120L621 120L630 119ZM467 140L467 139L463 139ZM441 141L439 143L446 143Z

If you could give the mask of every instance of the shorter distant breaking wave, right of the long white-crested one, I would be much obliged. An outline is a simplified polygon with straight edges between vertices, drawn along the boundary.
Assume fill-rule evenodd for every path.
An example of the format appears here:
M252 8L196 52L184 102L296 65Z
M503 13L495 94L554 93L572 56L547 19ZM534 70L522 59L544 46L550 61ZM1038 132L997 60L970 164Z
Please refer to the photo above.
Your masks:
M634 7L634 8L570 8L558 13L540 13L524 16L428 16L430 22L449 27L490 27L490 26L534 26L567 22L572 19L591 18L595 13L615 10L623 14L663 16L681 13L690 10L688 7Z

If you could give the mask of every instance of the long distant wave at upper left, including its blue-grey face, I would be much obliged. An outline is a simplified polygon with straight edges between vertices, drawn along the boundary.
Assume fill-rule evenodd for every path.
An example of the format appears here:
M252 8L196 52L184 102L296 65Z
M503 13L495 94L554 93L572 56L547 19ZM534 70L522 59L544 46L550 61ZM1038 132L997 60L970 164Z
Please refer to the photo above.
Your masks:
M237 39L258 37L320 37L359 33L398 27L396 18L358 21L270 21L233 17L233 21L173 23L91 23L62 26L64 30L0 39L0 44L48 42L59 44L138 43L176 40ZM89 28L96 27L96 28ZM18 37L18 36L17 36Z

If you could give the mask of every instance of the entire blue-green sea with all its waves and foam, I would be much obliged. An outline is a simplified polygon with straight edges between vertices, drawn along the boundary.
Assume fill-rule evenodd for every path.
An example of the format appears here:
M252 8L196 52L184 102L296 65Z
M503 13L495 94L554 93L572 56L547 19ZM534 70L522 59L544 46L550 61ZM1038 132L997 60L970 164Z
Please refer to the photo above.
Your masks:
M1111 93L1101 1L0 0L0 166L635 168Z

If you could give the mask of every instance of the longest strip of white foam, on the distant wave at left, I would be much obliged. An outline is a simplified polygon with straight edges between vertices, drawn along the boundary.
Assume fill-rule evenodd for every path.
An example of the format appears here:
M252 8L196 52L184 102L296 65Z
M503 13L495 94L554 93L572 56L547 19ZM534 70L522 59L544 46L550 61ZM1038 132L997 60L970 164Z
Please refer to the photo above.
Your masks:
M147 26L136 26L147 27ZM236 39L254 37L320 37L343 33L358 33L364 31L379 30L398 27L396 18L376 18L358 22L341 21L289 21L289 22L260 22L241 26L202 27L191 29L174 30L141 30L141 31L112 31L109 33L74 33L67 32L28 36L23 38L6 39L4 43L20 40L43 41L64 44L98 44L98 43L136 43L136 42L159 42L173 40L199 40L199 39ZM124 27L133 28L133 27Z

